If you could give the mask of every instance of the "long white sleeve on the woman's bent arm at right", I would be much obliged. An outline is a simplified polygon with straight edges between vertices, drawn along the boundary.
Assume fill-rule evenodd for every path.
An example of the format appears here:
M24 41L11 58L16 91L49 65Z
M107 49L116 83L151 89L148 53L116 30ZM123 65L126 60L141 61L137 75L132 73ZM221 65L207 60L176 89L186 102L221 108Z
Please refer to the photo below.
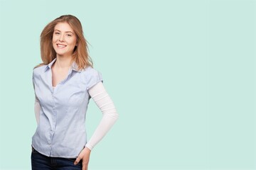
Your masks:
M97 126L89 142L85 145L85 147L92 150L92 148L95 147L95 145L97 145L97 143L107 134L110 128L112 128L112 125L114 125L119 115L117 114L114 103L107 94L102 82L97 83L88 92L102 112L102 120L100 121L100 124Z

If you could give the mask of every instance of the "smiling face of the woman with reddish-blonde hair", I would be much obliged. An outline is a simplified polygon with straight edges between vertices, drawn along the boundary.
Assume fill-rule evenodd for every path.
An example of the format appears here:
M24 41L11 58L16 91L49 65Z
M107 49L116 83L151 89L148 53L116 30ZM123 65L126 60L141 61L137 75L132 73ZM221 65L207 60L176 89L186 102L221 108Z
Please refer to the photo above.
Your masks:
M68 23L58 23L53 32L53 48L58 56L71 57L77 38Z

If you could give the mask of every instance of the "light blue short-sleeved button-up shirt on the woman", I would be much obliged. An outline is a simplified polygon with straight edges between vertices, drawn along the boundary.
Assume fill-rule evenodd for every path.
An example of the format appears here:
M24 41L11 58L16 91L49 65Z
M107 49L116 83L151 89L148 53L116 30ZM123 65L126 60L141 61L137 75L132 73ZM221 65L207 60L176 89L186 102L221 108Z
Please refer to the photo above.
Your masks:
M87 142L87 91L102 81L102 75L92 67L78 71L73 62L68 77L53 88L51 67L55 60L33 69L33 86L41 111L32 146L48 157L75 158Z

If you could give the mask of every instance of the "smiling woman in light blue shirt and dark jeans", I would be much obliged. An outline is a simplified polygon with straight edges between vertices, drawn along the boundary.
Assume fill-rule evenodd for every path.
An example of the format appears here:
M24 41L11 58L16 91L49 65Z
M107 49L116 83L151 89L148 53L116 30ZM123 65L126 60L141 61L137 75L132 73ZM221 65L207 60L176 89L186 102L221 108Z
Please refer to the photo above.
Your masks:
M42 64L33 69L38 127L32 137L31 166L87 170L90 152L118 118L102 75L92 68L78 18L60 16L41 33ZM92 98L102 120L87 141L85 115Z

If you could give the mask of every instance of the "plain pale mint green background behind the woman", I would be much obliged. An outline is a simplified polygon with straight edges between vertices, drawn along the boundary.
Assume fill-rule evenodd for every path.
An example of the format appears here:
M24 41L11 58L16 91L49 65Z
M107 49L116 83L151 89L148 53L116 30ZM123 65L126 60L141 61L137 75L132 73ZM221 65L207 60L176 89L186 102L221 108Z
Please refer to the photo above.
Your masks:
M120 115L90 169L256 169L255 11L248 0L0 0L0 169L31 169L39 36L68 13ZM90 102L89 137L100 118Z

